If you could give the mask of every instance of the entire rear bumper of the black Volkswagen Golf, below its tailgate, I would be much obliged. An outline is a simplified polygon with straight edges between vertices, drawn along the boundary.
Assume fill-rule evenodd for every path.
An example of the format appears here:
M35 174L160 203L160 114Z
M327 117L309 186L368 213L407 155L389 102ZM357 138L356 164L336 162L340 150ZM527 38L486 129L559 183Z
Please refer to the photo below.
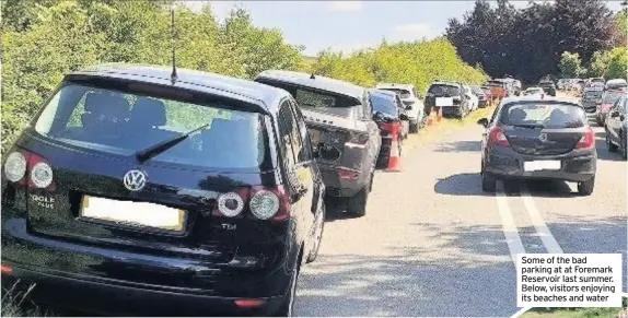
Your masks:
M290 285L293 259L244 269L36 236L24 219L5 220L2 227L2 263L13 267L11 275L2 275L3 286L35 283L34 301L95 314L232 313L244 310L233 303L240 298L264 299L255 311L272 311Z

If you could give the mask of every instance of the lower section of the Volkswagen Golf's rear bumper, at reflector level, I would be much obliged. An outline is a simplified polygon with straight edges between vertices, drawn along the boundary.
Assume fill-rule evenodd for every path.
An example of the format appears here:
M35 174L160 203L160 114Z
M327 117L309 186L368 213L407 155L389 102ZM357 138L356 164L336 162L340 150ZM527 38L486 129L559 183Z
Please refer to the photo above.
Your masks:
M260 298L265 303L259 307L240 308L234 304L239 298L93 282L75 274L70 276L14 267L11 275L2 275L2 286L15 286L14 292L25 291L33 283L35 287L28 296L38 304L115 316L269 315L283 299L282 296L265 297Z

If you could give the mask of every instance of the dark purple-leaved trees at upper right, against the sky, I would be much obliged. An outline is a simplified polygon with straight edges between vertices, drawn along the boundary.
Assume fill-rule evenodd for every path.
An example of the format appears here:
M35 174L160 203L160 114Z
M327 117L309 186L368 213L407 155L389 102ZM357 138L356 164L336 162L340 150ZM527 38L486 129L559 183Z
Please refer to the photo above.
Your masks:
M491 76L535 82L558 74L565 51L589 64L593 54L612 47L613 16L603 0L557 0L514 9L508 0L491 7L476 0L462 21L449 22L446 37L464 61L480 63Z

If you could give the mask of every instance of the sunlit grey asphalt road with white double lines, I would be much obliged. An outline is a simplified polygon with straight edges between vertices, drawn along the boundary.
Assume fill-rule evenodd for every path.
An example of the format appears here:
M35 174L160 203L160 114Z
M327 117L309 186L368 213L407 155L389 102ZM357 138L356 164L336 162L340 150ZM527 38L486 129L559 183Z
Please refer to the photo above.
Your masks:
M402 173L376 175L367 216L329 217L319 258L302 269L296 315L510 317L520 248L626 260L627 164L595 130L590 197L566 182L484 193L479 126L406 151Z

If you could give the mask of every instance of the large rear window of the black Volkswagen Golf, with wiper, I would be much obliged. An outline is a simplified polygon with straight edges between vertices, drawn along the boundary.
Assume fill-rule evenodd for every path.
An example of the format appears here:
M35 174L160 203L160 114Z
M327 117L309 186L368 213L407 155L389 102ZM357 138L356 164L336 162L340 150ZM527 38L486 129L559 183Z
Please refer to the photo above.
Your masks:
M48 138L118 155L210 126L151 158L211 168L256 168L266 157L264 116L67 83L35 123Z

